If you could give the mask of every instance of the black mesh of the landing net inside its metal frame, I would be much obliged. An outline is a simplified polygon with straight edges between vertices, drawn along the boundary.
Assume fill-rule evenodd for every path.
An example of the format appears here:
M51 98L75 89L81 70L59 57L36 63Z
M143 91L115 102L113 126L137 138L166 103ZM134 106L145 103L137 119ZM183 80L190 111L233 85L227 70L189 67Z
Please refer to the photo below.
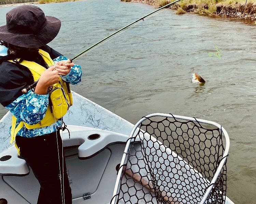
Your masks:
M116 203L200 203L225 150L222 131L159 116L147 118L138 129L134 138L140 142L131 143L126 154ZM205 203L224 204L225 194L226 165Z

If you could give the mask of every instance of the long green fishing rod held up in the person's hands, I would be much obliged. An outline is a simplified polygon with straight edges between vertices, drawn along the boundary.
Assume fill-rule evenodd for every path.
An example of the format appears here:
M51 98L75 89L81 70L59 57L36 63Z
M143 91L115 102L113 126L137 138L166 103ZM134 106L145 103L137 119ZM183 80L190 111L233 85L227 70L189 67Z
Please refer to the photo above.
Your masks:
M136 21L134 21L134 22L128 24L127 26L125 26L125 27L119 29L118 31L112 33L111 35L109 35L109 36L103 38L103 39L100 40L98 43L96 43L96 44L94 44L93 46L87 48L86 50L84 50L84 51L81 52L80 54L74 56L74 57L71 58L71 59L68 59L68 60L65 62L65 64L67 64L67 63L72 63L73 60L75 60L76 58L80 57L81 55L83 55L84 53L86 53L87 51L89 51L90 49L92 49L92 48L94 48L95 46L99 45L100 43L102 43L102 42L105 41L106 39L112 37L113 35L119 33L120 31L122 31L122 30L128 28L128 27L131 26L132 24L137 23L137 22L139 22L139 21L141 21L141 20L144 21L144 18L146 18L146 17L148 17L148 16L150 16L150 15L152 15L152 14L154 14L154 13L160 11L160 10L162 10L163 8L169 7L170 5L172 5L172 4L174 4L174 3L177 3L177 2L179 2L179 1L181 1L181 0L173 1L173 2L171 2L171 3L169 3L169 4L166 4L165 6L162 6L162 7L158 8L157 10L155 10L155 11L153 11L153 12L151 12L151 13L149 13L149 14L147 14L147 15L145 15L145 16L139 18L139 19L137 19ZM63 65L64 65L64 64L63 64ZM39 81L39 80L37 80L36 82L34 82L33 84L31 84L31 85L28 86L27 88L22 89L22 93L23 93L23 94L26 94L29 90L35 88L35 86L37 85L38 81Z

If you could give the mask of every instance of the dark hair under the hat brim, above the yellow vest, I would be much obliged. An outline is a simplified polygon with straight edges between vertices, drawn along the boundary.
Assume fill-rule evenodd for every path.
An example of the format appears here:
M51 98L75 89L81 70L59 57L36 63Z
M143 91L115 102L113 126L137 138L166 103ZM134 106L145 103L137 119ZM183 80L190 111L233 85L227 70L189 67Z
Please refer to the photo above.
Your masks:
M5 46L8 48L7 56L2 57L0 62L13 60L16 58L22 58L24 60L30 61L35 54L38 54L39 48L25 48L19 47L16 45L12 45L0 39L0 45Z

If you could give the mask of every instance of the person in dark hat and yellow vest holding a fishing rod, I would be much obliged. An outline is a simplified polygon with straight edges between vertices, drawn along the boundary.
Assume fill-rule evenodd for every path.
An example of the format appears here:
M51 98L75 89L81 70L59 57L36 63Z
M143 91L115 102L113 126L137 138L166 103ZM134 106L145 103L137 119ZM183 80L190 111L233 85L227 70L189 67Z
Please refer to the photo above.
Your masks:
M82 71L46 45L60 26L39 7L22 5L9 11L0 27L6 50L0 56L0 103L12 113L11 143L39 181L38 204L72 203L60 129L72 105L69 84L78 84ZM35 88L22 92L37 80Z

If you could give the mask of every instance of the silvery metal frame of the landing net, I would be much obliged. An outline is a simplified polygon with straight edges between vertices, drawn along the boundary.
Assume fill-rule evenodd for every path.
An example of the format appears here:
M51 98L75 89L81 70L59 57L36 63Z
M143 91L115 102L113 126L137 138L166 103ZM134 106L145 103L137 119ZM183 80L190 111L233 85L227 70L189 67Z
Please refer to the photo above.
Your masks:
M134 127L133 127L133 129L132 129L132 131L129 135L129 138L127 140L126 147L125 147L125 150L124 150L124 154L123 154L123 157L122 157L122 160L121 160L121 163L120 163L120 167L119 167L118 172L117 172L117 179L116 179L116 183L115 183L115 187L114 187L113 198L111 200L111 204L115 204L116 200L119 196L118 191L120 191L120 183L121 183L121 180L122 180L122 176L124 174L124 170L125 170L126 165L127 165L127 155L129 155L129 147L131 145L131 142L138 141L136 139L136 137L137 137L138 132L140 130L140 125L142 124L143 121L145 121L147 119L150 119L152 117L166 117L166 118L187 120L187 121L191 121L191 122L196 122L200 126L201 126L200 123L213 125L213 126L216 126L216 128L219 129L219 131L221 133L221 137L225 138L225 140L226 140L225 143L226 144L225 144L225 149L223 148L224 153L222 154L222 158L219 159L219 165L217 166L216 171L214 173L214 176L212 177L212 180L210 181L210 185L206 188L205 193L204 193L204 195L203 195L203 197L200 201L200 204L204 204L205 201L207 201L209 195L211 194L217 180L219 179L219 175L221 174L222 171L226 171L226 168L224 169L224 166L226 167L226 161L227 161L228 151L229 151L229 147L230 147L230 140L229 140L228 133L222 127L222 125L220 125L216 122L213 122L213 121L197 119L197 118L192 118L192 117L186 117L186 116L172 115L172 114L163 114L163 113L154 113L154 114L147 115L147 116L143 117L141 120L139 120L134 125ZM225 194L224 194L224 196L225 196ZM225 198L224 198L224 202L225 202Z

